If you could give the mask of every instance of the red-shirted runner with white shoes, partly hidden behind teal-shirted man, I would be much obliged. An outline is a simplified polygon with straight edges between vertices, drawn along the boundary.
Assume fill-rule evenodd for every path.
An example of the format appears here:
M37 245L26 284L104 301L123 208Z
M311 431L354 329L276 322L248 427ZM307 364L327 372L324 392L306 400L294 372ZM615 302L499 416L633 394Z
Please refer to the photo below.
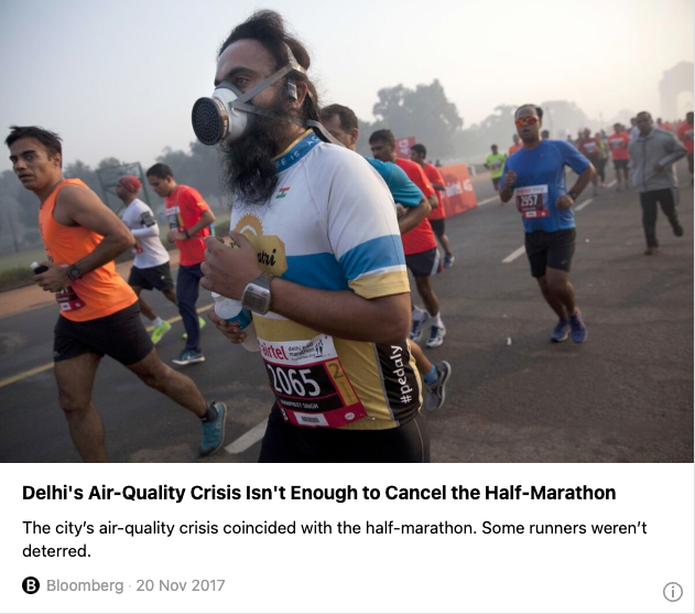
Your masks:
M369 147L372 155L382 162L393 162L405 171L410 180L422 190L425 198L430 201L433 207L438 206L434 187L427 180L424 171L411 160L398 158L395 155L395 137L391 130L377 130L369 137ZM437 241L434 238L432 226L428 219L423 219L419 226L409 230L402 236L403 251L405 252L405 263L412 271L426 311L420 309L413 303L413 325L410 338L419 341L422 337L422 331L427 316L432 317L432 328L427 347L438 347L444 343L446 328L439 313L439 299L432 288L432 276L443 270L442 260L439 259L439 250Z

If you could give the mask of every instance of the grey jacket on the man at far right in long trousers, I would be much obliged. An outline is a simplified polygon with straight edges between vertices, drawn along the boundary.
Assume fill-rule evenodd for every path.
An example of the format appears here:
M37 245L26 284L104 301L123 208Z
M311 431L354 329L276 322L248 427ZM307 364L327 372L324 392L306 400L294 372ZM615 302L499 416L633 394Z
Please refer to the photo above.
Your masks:
M652 128L647 137L630 142L630 179L639 192L671 190L677 185L673 163L685 157L685 148L674 134ZM654 170L660 164L663 171Z

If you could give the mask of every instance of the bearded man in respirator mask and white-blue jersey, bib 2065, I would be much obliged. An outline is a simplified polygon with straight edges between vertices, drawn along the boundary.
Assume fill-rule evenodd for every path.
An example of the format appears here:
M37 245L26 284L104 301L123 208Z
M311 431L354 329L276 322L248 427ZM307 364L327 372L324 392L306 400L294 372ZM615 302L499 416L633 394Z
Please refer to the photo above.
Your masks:
M275 395L260 462L428 462L393 198L361 155L317 137L310 65L273 11L221 45L214 99L193 117L221 142L238 249L208 238L200 284L253 313Z

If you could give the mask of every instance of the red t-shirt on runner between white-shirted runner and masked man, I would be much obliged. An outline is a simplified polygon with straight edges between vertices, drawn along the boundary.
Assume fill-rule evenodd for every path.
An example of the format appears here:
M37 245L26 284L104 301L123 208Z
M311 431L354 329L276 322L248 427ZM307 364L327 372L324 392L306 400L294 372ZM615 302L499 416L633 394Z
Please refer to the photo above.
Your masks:
M173 229L175 225L178 233L183 233L184 228L195 226L200 222L203 214L210 211L200 193L188 185L178 184L174 193L164 198L164 204L169 227ZM176 247L181 254L181 265L193 267L203 262L205 260L205 237L209 236L210 229L205 226L189 239L176 241Z

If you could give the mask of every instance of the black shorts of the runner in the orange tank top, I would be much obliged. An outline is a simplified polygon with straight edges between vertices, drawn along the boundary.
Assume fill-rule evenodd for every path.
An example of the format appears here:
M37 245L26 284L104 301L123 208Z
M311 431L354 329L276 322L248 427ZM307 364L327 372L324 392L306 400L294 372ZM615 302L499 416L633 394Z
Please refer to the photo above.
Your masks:
M111 315L87 322L73 322L59 315L53 332L55 363L91 353L110 356L122 365L134 365L154 347L140 320L137 302Z

